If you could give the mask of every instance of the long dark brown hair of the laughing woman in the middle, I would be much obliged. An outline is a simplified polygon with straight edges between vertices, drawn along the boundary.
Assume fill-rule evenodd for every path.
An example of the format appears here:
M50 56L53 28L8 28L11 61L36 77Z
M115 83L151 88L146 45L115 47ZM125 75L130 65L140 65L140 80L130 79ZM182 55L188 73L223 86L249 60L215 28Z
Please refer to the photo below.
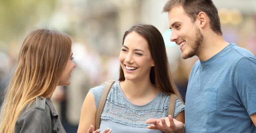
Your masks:
M150 70L151 83L154 84L161 92L165 94L173 93L182 101L180 93L171 77L164 39L159 30L153 25L134 25L124 33L123 44L126 36L133 31L140 34L148 42L151 58L153 59L155 65ZM125 80L124 71L121 66L119 80Z

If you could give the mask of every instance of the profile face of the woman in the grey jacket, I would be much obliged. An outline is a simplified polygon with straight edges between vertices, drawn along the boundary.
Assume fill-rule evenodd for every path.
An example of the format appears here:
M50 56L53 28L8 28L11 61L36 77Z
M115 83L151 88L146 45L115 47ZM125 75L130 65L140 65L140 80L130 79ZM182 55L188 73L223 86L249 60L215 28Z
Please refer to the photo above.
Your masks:
M72 50L70 51L70 56L68 58L67 64L61 74L60 81L58 83L58 86L65 86L65 85L70 85L70 74L73 70L73 68L76 66L75 63L73 62L73 53Z

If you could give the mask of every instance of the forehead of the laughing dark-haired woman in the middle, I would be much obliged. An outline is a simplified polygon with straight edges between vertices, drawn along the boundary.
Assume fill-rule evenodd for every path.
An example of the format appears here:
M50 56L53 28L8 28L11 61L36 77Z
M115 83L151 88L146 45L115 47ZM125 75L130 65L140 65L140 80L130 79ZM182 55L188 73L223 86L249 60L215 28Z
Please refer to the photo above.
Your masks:
M148 47L148 41L139 33L133 31L125 37L124 45L127 47L145 48Z

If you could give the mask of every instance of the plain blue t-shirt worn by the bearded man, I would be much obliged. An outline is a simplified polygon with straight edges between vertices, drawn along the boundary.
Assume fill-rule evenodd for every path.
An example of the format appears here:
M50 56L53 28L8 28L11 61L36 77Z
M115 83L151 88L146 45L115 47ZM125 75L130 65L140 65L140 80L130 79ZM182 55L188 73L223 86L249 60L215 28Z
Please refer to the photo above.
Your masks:
M256 57L229 44L191 71L185 107L186 133L256 133Z

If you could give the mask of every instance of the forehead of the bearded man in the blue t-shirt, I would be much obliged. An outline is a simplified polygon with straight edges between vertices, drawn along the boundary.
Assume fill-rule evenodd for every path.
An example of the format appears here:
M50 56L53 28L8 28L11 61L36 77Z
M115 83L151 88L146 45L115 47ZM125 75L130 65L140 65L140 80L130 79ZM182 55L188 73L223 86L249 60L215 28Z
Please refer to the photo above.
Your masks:
M186 14L181 5L171 8L171 10L168 12L168 18L170 26L176 22L191 22L191 18Z

